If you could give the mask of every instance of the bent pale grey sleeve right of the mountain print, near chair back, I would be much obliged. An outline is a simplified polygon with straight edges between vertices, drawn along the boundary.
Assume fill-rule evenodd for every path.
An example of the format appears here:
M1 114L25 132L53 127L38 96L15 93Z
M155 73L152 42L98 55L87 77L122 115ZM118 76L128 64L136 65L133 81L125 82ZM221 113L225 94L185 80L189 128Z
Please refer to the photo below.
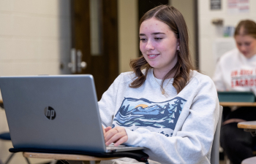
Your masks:
M193 164L208 160L219 119L219 101L214 82L207 79L195 88L189 114L176 136L166 137L146 128L126 129L126 144L148 148L145 152L149 159L159 163Z

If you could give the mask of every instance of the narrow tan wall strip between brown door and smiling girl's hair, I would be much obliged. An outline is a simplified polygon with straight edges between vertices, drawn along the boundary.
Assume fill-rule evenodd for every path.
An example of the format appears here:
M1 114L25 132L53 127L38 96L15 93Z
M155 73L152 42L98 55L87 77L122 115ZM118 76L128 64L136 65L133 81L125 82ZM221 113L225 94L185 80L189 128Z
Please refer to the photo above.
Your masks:
M138 0L118 0L119 73L131 71L129 60L138 57Z

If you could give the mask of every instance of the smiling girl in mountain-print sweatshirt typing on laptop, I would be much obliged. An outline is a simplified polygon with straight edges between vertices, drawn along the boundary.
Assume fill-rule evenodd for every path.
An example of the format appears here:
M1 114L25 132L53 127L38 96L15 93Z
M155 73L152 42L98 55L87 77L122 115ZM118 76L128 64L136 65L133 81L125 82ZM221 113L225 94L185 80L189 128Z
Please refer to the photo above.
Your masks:
M133 71L120 74L99 101L105 144L146 147L149 163L210 163L219 101L211 78L192 68L184 17L155 7L141 18L139 36L142 56L131 60ZM124 161L133 160L106 163Z

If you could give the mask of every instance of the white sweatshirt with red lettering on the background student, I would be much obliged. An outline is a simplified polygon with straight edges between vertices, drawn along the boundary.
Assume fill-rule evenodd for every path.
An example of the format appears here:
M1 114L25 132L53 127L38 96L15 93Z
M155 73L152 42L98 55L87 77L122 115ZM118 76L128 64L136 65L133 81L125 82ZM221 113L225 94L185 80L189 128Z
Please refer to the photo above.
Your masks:
M238 49L219 58L214 77L219 91L250 91L256 94L256 54L245 58Z

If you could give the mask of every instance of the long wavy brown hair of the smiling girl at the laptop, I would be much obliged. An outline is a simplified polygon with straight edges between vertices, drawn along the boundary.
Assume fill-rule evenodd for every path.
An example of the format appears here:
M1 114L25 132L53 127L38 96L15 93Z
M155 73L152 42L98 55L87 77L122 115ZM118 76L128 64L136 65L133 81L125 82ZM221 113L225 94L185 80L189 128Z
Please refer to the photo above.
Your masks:
M140 25L143 21L148 20L154 17L155 19L167 24L170 27L170 30L176 35L176 38L179 40L180 51L176 51L178 55L178 61L176 65L171 69L162 79L162 84L170 76L174 74L173 77L173 87L176 88L177 93L180 93L181 90L187 85L190 79L190 70L194 70L192 66L192 60L189 54L189 35L187 32L187 25L185 23L184 17L181 15L181 12L178 11L175 7L168 5L160 5L154 7L154 9L146 12L143 17L140 19ZM148 74L148 69L151 66L148 64L146 59L141 56L140 58L130 61L130 67L135 72L137 79L135 79L129 87L140 87L143 85L143 82L146 80ZM146 69L145 75L142 73L142 69Z

